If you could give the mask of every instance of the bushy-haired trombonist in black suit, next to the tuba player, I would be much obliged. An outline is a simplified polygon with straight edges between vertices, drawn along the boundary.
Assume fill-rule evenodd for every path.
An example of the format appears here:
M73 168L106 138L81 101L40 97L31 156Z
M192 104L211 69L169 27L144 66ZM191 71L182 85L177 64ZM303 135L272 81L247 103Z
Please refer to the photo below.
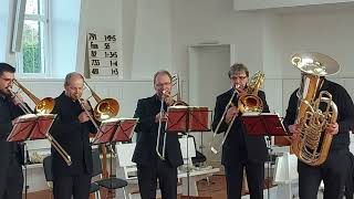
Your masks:
M241 198L243 168L246 168L251 199L262 199L264 161L268 157L266 140L262 136L249 136L247 134L237 106L238 98L247 91L249 71L246 65L236 63L231 65L228 75L231 83L231 90L217 97L212 121L212 129L216 130L235 88L238 90L239 94L232 100L235 106L229 107L218 129L218 133L226 132L232 117L236 116L228 137L222 145L221 156L221 164L223 165L226 172L228 199ZM269 112L264 92L259 91L258 96L263 102L263 112Z

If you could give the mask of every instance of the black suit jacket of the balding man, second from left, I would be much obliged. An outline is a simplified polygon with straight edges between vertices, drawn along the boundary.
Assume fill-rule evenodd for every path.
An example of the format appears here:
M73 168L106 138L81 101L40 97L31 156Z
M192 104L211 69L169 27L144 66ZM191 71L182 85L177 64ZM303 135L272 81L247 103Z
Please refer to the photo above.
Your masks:
M55 148L52 147L53 175L72 176L92 172L92 154L88 135L96 133L92 122L80 123L77 116L83 112L79 101L72 101L64 93L55 98L53 114L55 122L51 128L52 136L71 156L67 166Z

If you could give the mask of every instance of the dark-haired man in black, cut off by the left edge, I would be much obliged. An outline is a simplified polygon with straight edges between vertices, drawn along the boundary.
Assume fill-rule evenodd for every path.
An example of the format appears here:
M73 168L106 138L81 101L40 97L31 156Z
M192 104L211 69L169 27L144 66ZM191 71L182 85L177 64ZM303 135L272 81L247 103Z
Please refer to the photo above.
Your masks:
M19 98L11 96L15 69L0 63L0 199L21 199L23 187L22 147L7 142L12 129L12 119L23 115Z

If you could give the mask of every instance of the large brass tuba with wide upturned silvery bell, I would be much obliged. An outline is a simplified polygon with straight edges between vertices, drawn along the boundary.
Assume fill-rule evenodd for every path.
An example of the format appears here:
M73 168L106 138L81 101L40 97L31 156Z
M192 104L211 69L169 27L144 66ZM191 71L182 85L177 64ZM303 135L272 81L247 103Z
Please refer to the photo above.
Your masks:
M291 149L301 161L319 166L325 161L333 138L333 135L325 133L326 126L335 123L337 117L332 95L326 91L319 91L323 76L337 73L340 65L332 57L315 52L296 53L291 62L302 72L296 93L299 101L295 124L299 124L299 136L292 140Z

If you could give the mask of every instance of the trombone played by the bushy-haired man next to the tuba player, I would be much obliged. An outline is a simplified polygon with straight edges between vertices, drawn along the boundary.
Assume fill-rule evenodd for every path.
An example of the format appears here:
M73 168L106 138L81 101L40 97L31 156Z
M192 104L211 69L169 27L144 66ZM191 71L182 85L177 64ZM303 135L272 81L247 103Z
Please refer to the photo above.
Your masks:
M264 74L260 71L258 71L252 77L251 80L249 81L248 83L248 87L247 87L247 93L244 95L241 95L238 100L238 108L239 108L239 113L240 114L260 114L262 111L263 111L263 102L262 100L258 96L258 91L259 88L262 86L264 82ZM231 127L233 125L233 122L237 117L237 115L235 115L229 125L228 125L228 128L227 130L225 132L225 135L223 135L223 138L221 140L221 144L219 145L219 147L216 147L216 137L217 137L217 134L219 132L219 128L225 119L225 116L228 112L228 109L233 106L233 103L232 103L232 100L235 97L235 95L238 95L239 92L238 92L238 88L239 88L239 85L236 85L236 87L233 88L233 93L228 102L228 104L226 105L225 107L225 111L221 115L221 118L216 127L216 129L214 130L214 135L212 135L212 139L211 139L211 143L210 143L210 150L214 153L214 154L218 154L220 150L221 150L221 147L223 145L223 143L226 142L230 130L231 130Z

